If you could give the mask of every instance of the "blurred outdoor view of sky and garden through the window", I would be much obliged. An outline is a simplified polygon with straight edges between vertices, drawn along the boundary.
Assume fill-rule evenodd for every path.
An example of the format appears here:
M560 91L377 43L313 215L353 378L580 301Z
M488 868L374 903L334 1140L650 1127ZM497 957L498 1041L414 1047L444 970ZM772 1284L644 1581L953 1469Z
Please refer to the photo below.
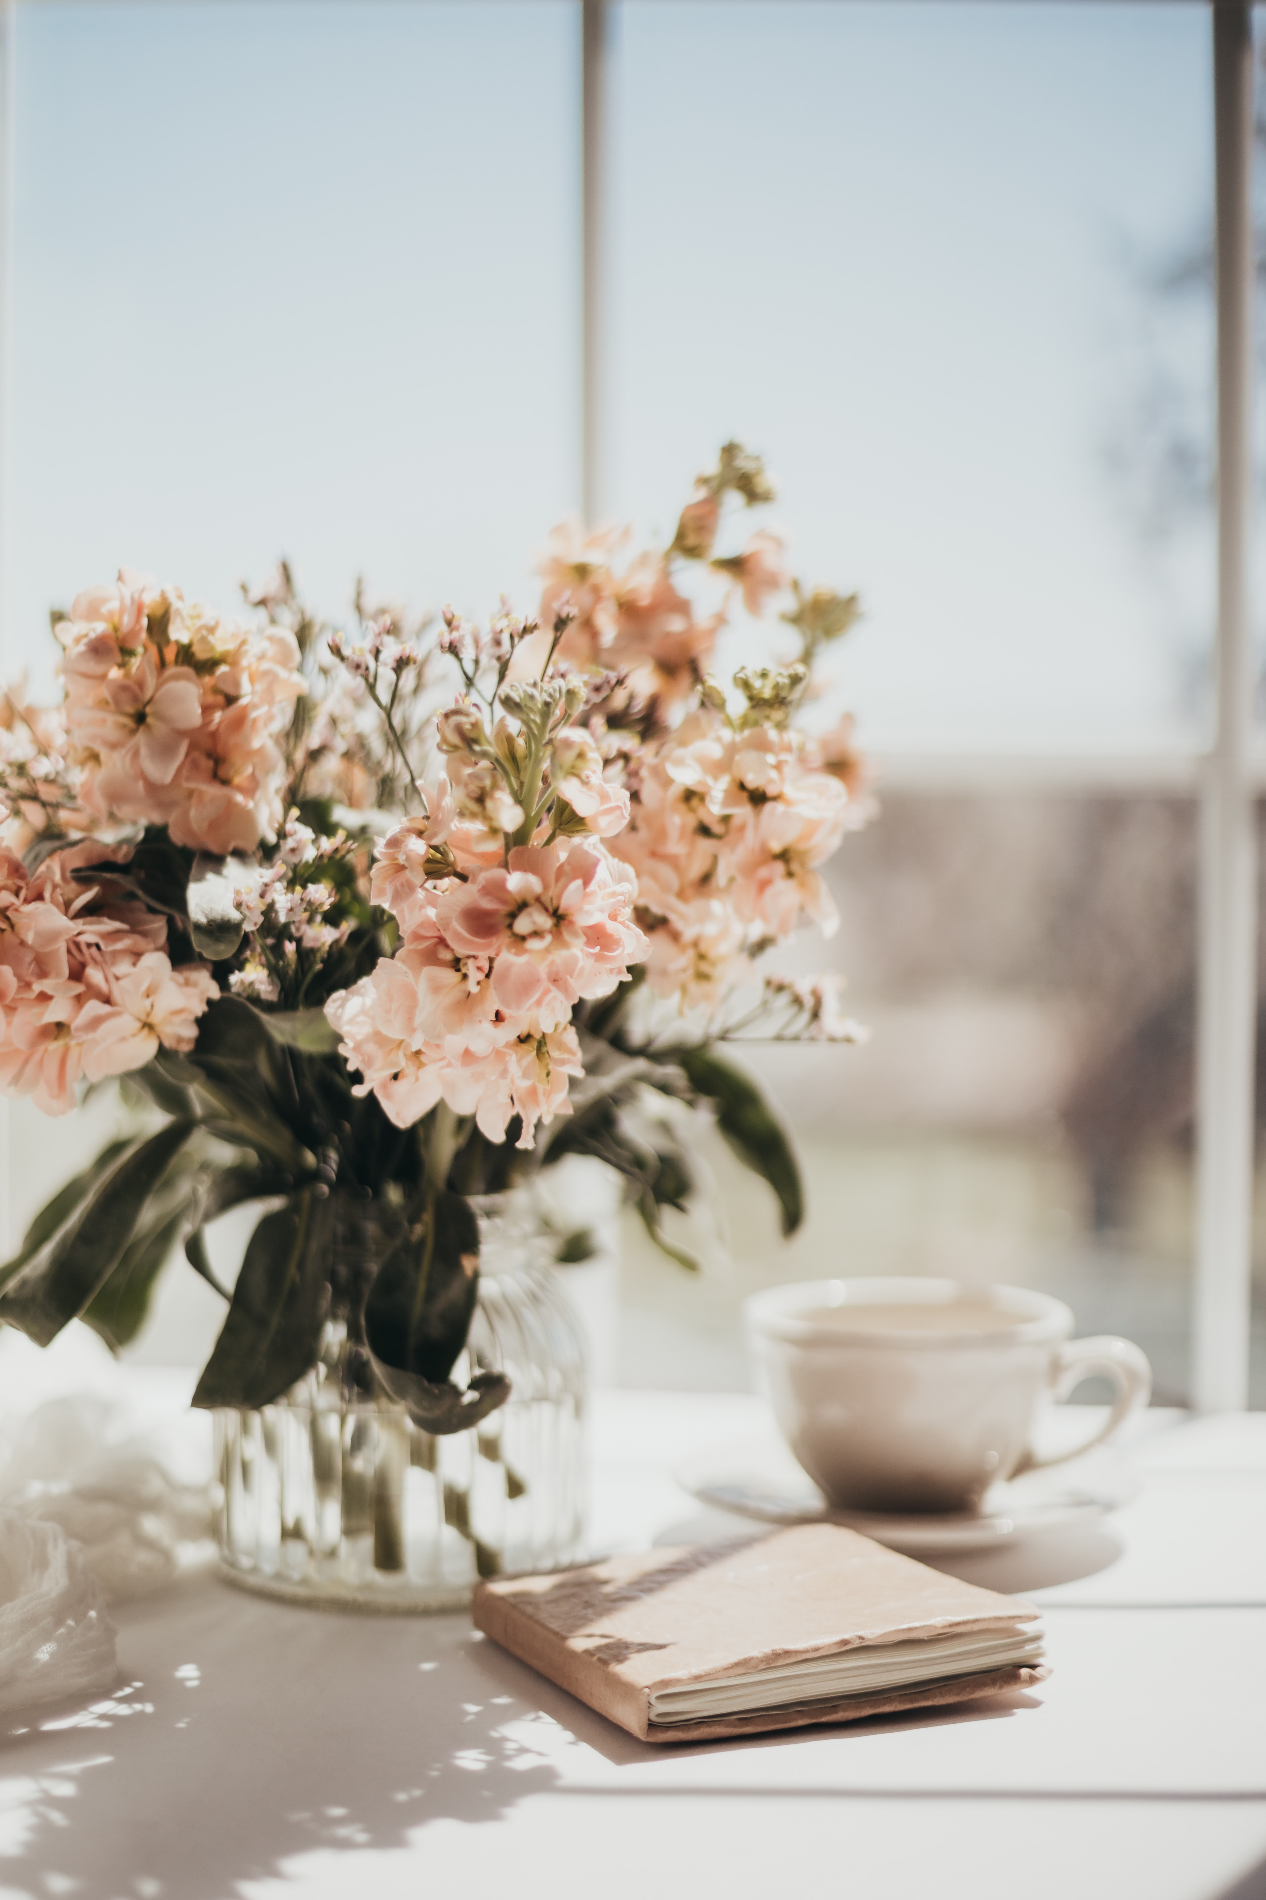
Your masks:
M752 1051L805 1229L708 1144L706 1271L630 1226L604 1370L736 1389L755 1286L953 1273L1067 1298L1182 1402L1207 6L624 0L611 34L604 511L668 540L721 441L769 458L795 568L866 602L829 699L881 817L797 950L871 1041ZM528 604L581 492L575 0L17 0L13 55L6 669L51 686L49 606L121 562ZM11 1110L11 1237L80 1148ZM177 1271L135 1353L216 1324Z

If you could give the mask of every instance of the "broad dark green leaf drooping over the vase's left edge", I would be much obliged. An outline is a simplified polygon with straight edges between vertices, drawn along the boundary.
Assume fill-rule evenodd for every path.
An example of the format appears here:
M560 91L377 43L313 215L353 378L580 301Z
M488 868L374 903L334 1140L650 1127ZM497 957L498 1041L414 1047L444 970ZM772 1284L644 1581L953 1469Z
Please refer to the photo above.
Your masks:
M323 1214L323 1191L304 1188L251 1235L195 1406L268 1406L315 1364L330 1279Z

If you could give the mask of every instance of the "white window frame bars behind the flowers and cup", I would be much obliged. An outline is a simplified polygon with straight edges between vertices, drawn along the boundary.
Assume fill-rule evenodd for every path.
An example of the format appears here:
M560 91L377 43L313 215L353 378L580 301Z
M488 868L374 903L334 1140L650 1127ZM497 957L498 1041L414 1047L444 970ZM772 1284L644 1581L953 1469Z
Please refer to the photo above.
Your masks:
M0 572L8 572L11 435L11 258L15 15L0 0ZM23 0L49 6L55 0ZM581 500L604 513L609 467L609 101L617 8L573 0L581 86ZM847 4L847 0L835 0ZM1021 0L1015 0L1021 4ZM1162 4L1162 0L1152 0ZM1249 625L1253 420L1253 114L1249 0L1207 0L1215 91L1217 264L1217 623L1215 720L1207 749L1152 752L905 752L879 758L886 785L941 792L1190 792L1200 800L1196 1060L1196 1271L1192 1396L1200 1412L1241 1410L1249 1396L1257 842L1255 802L1266 752L1255 750ZM0 1100L0 1227L9 1226L8 1102ZM4 1233L0 1233L0 1243ZM9 1233L9 1243L17 1235Z

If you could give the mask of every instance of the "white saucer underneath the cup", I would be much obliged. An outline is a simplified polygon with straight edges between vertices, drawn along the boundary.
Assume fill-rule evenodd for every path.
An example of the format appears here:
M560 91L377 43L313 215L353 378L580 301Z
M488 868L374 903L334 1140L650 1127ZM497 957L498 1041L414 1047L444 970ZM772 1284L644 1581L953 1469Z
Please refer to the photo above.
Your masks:
M995 1484L974 1512L892 1514L835 1510L782 1444L767 1438L687 1459L678 1484L700 1505L761 1524L847 1524L907 1556L993 1550L1046 1531L1063 1531L1116 1510L1139 1490L1137 1472L1110 1452Z

